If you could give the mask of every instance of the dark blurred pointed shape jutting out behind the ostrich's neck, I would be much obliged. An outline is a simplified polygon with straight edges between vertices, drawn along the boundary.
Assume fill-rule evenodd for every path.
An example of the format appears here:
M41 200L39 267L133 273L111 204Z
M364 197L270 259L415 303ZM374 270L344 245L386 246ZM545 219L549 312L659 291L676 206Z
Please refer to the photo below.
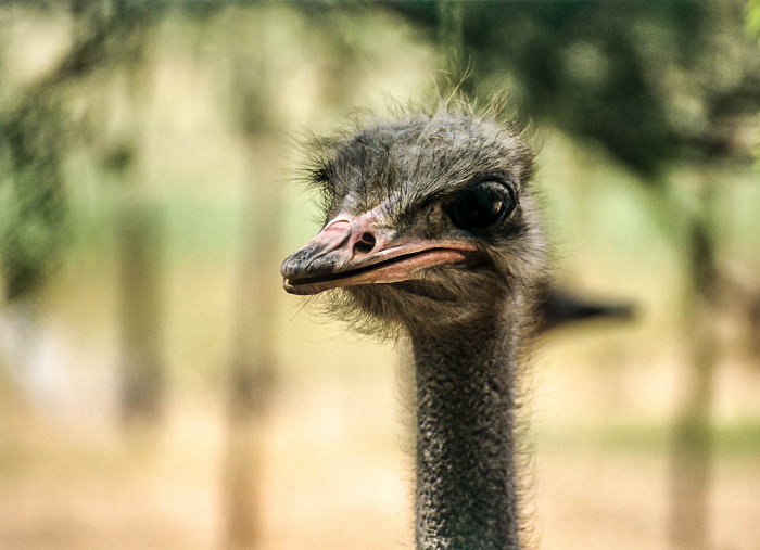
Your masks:
M631 320L635 306L625 302L591 299L567 289L547 286L539 303L539 330L590 320Z

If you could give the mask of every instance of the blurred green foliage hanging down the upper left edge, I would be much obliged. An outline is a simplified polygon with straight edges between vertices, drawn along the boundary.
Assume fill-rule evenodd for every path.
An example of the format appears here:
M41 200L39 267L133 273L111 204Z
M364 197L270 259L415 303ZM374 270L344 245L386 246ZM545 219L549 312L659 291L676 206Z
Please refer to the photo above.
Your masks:
M88 79L135 59L135 42L123 39L138 35L139 17L118 9L109 14L104 7L41 3L9 8L0 20L0 273L8 299L34 293L60 263L67 232L64 165L99 141L88 119L92 98L83 93ZM35 13L36 22L25 21ZM51 31L41 66L24 48L24 24ZM26 66L18 71L20 64Z

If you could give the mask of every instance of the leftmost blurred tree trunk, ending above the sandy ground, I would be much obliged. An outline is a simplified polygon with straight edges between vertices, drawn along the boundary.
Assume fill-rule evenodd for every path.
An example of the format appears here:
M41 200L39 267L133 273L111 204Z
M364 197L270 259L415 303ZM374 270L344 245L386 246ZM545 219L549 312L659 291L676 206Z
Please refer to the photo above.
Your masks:
M124 8L124 7L122 7ZM97 17L97 13L93 15ZM135 23L126 9L114 12L129 42L124 60L130 116L123 138L104 157L118 177L123 204L118 213L122 387L121 415L127 429L152 427L163 415L166 394L164 358L164 284L161 207L143 189L139 144L151 99L153 67L147 57L148 25Z

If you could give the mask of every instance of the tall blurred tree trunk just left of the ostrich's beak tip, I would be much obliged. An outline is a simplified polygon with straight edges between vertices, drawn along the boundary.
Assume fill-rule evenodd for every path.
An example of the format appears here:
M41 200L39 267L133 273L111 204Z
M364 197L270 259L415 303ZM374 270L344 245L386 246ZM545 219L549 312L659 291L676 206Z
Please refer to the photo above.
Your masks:
M266 18L266 12L264 13ZM229 426L225 459L225 548L256 548L262 532L262 471L268 411L275 393L276 296L279 276L281 192L275 183L278 143L271 139L274 112L267 89L268 36L258 37L255 56L236 44L232 102L245 143L249 174L242 217L242 252L229 364Z

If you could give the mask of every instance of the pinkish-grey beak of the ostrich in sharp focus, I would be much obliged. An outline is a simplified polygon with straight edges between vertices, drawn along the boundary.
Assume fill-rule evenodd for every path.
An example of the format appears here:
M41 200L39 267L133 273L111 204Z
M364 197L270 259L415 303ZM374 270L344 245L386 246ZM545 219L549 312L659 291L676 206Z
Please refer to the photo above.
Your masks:
M280 268L284 290L317 294L338 286L393 283L423 277L426 268L464 260L473 243L456 240L397 238L371 210L341 213Z

